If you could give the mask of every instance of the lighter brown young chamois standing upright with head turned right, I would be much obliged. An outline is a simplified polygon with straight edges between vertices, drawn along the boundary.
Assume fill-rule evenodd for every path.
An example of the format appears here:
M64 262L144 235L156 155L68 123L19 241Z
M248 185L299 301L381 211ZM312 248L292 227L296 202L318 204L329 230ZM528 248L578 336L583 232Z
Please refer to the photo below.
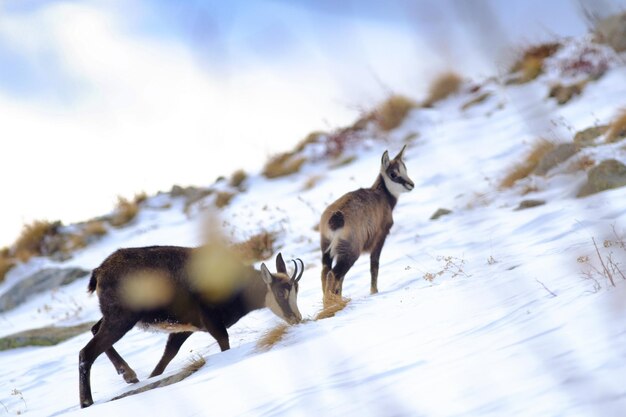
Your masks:
M385 151L380 174L370 188L349 192L322 213L322 292L341 296L343 279L361 253L370 253L370 292L378 292L378 261L389 229L392 211L400 193L413 189L402 155L406 145L391 161ZM333 265L333 261L335 266Z

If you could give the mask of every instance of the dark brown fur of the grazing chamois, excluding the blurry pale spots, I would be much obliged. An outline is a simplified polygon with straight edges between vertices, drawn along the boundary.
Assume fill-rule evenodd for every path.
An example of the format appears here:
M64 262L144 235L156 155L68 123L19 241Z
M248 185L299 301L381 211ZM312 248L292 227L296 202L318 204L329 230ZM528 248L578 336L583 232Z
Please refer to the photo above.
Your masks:
M295 289L297 279L289 278L282 256L276 257L278 273L263 277L264 272L243 267L242 284L220 301L209 301L194 285L189 275L189 262L196 249L176 246L151 246L119 249L96 268L89 280L89 292L96 291L102 318L93 326L93 339L79 354L80 404L93 404L90 387L90 369L95 359L105 352L115 369L128 383L138 382L135 372L113 348L113 344L136 324L170 331L163 356L150 377L160 375L174 358L184 341L196 330L207 331L222 351L230 348L227 328L250 311L266 307L266 296L271 291L276 305L286 320L301 319L299 311L290 308L283 294ZM124 301L124 284L134 274L159 274L168 289L167 296L152 307L129 306ZM294 273L295 277L295 273ZM271 283L268 281L271 279ZM298 278L299 279L299 278ZM287 291L285 293L285 291ZM280 294L280 296L278 295Z

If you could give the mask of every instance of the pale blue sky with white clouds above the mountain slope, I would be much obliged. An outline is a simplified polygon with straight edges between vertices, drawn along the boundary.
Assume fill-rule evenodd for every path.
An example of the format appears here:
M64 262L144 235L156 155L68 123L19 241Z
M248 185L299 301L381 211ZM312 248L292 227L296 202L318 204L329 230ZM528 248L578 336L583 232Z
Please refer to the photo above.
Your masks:
M256 169L390 91L419 99L443 70L490 76L511 45L585 31L568 0L0 0L0 246L23 222Z

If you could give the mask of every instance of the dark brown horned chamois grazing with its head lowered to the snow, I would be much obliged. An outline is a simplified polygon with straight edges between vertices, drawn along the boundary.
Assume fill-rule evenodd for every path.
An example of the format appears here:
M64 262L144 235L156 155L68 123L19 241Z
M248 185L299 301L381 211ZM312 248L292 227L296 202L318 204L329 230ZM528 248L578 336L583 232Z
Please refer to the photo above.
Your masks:
M90 371L102 352L127 383L138 382L135 372L113 348L135 324L170 333L163 356L150 374L153 377L163 373L195 331L209 332L225 351L230 348L226 329L253 310L269 307L289 323L302 320L297 305L298 281L304 270L300 259L298 276L296 261L293 275L287 275L280 253L276 256L276 274L265 264L258 271L234 261L234 268L231 262L215 268L218 271L199 275L196 262L206 262L202 250L177 246L119 249L94 269L88 291L97 292L102 318L91 328L94 336L78 357L81 407L93 404ZM211 287L214 278L208 283L201 279L206 273L218 279L228 276L227 291Z

